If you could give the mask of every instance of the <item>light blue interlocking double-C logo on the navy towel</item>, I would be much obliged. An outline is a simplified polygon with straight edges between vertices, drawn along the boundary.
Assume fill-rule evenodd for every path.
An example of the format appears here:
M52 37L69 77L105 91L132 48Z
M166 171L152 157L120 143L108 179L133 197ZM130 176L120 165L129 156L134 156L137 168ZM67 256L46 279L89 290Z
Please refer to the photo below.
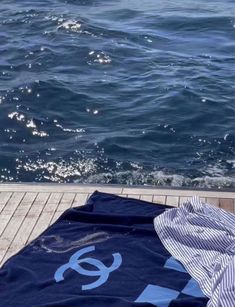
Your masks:
M101 286L102 284L104 284L108 280L109 274L120 267L122 263L122 257L119 253L112 254L113 263L109 267L105 266L103 262L101 262L100 260L97 260L94 258L86 257L83 259L79 259L82 255L92 252L94 250L95 250L95 246L88 246L74 253L70 257L68 263L60 266L56 270L55 275L54 275L55 281L60 282L64 280L64 272L67 271L68 269L72 269L82 275L99 277L95 282L92 282L87 285L83 285L82 290L91 290L91 289L97 288ZM92 266L95 266L97 270L94 270L94 271L86 270L83 267L81 267L80 265L81 263L88 263Z

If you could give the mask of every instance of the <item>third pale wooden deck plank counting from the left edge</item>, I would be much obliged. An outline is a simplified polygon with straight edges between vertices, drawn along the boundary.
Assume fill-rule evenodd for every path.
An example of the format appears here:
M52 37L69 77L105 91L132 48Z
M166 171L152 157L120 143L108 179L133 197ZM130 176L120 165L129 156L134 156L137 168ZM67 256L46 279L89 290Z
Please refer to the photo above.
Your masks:
M0 237L0 262L20 228L37 193L26 193Z

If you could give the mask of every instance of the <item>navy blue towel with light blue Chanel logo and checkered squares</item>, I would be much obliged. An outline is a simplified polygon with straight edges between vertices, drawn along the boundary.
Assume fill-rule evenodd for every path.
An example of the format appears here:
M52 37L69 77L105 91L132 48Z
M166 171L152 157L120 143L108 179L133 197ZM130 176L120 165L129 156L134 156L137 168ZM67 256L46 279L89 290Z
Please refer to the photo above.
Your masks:
M154 230L166 208L95 192L3 265L0 306L206 306Z

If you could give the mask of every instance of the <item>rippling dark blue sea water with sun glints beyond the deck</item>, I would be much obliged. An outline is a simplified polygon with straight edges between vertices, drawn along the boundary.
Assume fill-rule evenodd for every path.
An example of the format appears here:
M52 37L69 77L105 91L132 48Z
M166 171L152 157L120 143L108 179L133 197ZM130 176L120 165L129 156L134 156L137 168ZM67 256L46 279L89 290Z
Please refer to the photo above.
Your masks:
M0 1L0 181L235 187L231 0Z

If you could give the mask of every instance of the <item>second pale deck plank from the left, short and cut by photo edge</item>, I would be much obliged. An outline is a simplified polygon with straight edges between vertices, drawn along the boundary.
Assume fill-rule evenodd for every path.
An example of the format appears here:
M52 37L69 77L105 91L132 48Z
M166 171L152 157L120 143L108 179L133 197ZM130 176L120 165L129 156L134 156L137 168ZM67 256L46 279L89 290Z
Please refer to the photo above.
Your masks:
M17 206L19 205L22 198L24 197L24 194L25 193L22 193L22 192L13 193L7 205L4 207L3 211L1 212L0 236L3 233L8 222L10 221L12 215L14 214Z

